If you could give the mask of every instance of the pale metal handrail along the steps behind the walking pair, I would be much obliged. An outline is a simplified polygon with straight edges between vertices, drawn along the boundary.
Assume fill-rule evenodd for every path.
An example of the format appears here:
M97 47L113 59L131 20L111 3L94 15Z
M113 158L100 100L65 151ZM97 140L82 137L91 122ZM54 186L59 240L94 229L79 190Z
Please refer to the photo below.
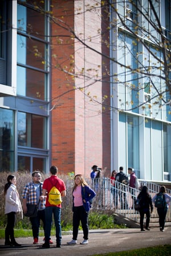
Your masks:
M92 189L96 192L96 199L93 200L93 209L101 210L114 210L115 213L124 215L127 218L130 218L134 221L139 220L139 212L134 209L135 198L137 198L140 193L140 189L134 189L128 185L121 184L118 181L115 181L115 189L113 189L112 181L110 178L95 178L95 179L86 179L87 183L91 186ZM154 182L139 180L140 188L145 185L148 187L150 195L160 191L160 185L155 184ZM168 194L171 193L170 189L166 189ZM123 197L123 202L120 202L120 197ZM126 198L126 200L124 200ZM155 208L154 208L155 209ZM156 210L154 210L154 214ZM156 215L157 217L157 215ZM171 220L171 210L169 208L167 218Z

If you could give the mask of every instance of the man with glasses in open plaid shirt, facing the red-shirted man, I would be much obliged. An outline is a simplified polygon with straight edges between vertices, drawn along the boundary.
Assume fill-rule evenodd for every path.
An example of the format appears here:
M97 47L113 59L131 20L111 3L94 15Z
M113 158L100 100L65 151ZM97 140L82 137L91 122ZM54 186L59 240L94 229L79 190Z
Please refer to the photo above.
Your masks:
M23 189L23 213L27 213L27 204L38 205L38 214L36 217L30 217L33 244L39 243L39 227L40 220L43 222L43 229L45 231L45 202L46 196L42 195L41 182L42 176L39 170L32 172L32 181L28 182ZM49 237L50 243L53 243Z

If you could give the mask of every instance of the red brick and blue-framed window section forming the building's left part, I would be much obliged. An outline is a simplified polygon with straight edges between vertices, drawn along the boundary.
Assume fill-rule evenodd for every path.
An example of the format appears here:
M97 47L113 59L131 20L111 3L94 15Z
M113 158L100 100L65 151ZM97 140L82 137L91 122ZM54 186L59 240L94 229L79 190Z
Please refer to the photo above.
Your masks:
M1 1L1 171L48 172L56 165L60 173L89 177L94 164L110 171L109 112L103 115L101 104L83 92L83 87L89 91L88 72L72 75L92 69L96 76L102 62L72 34L75 29L86 38L101 29L100 10L93 19L91 13L78 14L84 4ZM101 76L100 68L98 72ZM98 101L107 90L94 79L91 94Z

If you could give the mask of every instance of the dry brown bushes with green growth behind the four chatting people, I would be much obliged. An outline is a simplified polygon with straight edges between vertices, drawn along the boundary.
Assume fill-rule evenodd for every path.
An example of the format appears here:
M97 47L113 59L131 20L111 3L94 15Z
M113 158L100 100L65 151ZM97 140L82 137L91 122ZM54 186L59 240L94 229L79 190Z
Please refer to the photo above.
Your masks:
M7 173L1 172L1 181L0 181L0 228L4 228L7 223L7 216L4 214L5 212L5 198L3 195L3 189L7 182L7 176L9 174L14 174L17 178L17 189L19 196L22 201L22 192L24 186L32 180L31 174L28 172L15 172L15 173ZM48 174L42 173L42 181L45 178L48 178ZM61 225L62 230L72 230L72 187L74 185L74 178L71 175L59 175L60 178L66 184L66 193L67 196L63 197L62 200L62 212L61 212ZM98 196L96 196L96 200L93 201L93 207L89 213L89 228L90 229L109 229L113 227L119 227L114 224L113 212L110 210L95 210L96 204L98 204ZM120 226L123 227L123 226ZM23 220L19 214L17 214L17 223L15 225L16 229L31 229L31 224L29 218L23 216ZM52 229L54 229L54 222L52 223ZM80 227L81 228L81 227ZM42 225L40 229L43 229Z

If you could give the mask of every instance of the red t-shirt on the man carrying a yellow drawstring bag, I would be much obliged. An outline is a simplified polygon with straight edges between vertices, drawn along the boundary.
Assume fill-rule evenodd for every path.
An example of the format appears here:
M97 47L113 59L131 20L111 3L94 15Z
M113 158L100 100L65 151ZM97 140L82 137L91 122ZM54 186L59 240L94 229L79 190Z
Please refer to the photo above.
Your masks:
M43 182L43 189L47 190L47 197L46 197L46 204L45 204L45 206L46 207L47 206L57 206L57 207L61 208L61 205L51 205L48 202L48 193L50 192L50 190L51 190L51 188L53 186L56 186L56 188L58 188L60 193L62 191L64 191L64 190L66 190L66 185L64 184L63 180L61 180L57 176L52 175L50 178L46 178L46 180L44 180L44 182Z

